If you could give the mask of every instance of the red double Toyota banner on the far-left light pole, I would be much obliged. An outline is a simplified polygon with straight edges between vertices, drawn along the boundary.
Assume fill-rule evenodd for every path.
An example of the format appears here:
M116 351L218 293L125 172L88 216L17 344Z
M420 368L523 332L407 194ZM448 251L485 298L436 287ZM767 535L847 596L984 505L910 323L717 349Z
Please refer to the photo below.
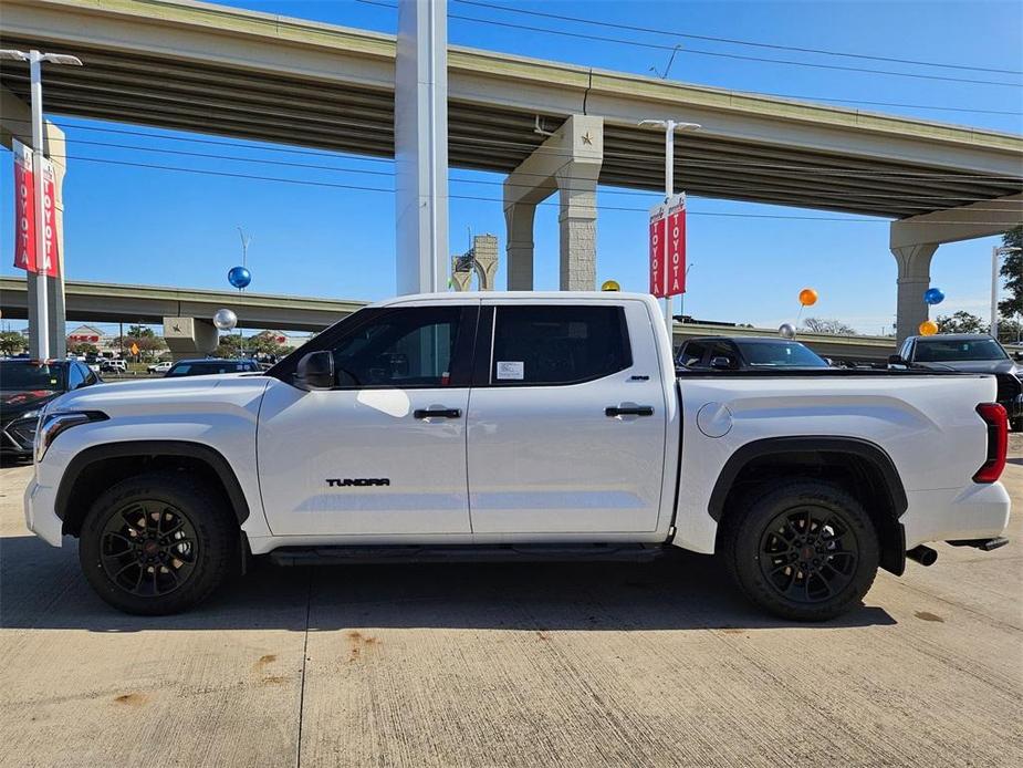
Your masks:
M43 258L35 248L35 174L32 151L14 139L14 267L48 277L60 274L53 164L43 159Z

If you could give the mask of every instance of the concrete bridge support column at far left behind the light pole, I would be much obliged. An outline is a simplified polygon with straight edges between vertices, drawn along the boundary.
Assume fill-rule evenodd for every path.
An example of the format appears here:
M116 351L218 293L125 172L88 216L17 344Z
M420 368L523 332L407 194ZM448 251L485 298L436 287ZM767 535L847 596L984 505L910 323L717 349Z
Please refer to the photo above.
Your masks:
M8 149L11 141L17 138L22 144L32 146L32 110L15 96L11 91L0 86L0 144ZM43 138L45 154L53 163L53 196L56 208L54 217L56 224L56 247L59 277L46 279L46 316L49 346L51 357L63 357L67 353L67 325L64 311L64 174L67 172L66 143L64 132L59 127L43 121ZM39 292L39 278L28 276L29 290L29 354L38 356L39 328L35 319L36 293Z

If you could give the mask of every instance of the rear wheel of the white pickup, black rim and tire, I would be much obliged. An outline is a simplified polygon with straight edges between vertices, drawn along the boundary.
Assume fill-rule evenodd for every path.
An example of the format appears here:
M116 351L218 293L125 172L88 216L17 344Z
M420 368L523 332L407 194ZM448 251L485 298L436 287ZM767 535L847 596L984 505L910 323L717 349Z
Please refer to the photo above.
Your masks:
M739 589L795 621L825 621L859 605L880 558L863 505L838 486L810 479L748 494L729 510L722 539Z

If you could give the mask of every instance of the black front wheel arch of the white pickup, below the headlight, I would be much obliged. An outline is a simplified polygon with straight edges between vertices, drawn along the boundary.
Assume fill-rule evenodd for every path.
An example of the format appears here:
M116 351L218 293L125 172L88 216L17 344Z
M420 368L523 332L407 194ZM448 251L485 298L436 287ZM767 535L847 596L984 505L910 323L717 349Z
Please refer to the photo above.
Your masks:
M182 450L181 448L176 449ZM113 485L129 477L159 470L187 473L189 478L201 480L216 494L225 508L231 510L239 525L249 517L248 505L238 485L238 479L229 467L225 469L227 463L215 452L211 453L220 459L223 467L215 466L215 460L201 455L199 450L124 455L122 447L115 453L116 455L98 456L92 460L87 460L88 457L82 457L82 459L76 457L75 463L80 467L69 466L58 491L56 504L58 516L64 521L63 532L65 535L79 536L82 521L93 502ZM229 476L225 476L225 471Z

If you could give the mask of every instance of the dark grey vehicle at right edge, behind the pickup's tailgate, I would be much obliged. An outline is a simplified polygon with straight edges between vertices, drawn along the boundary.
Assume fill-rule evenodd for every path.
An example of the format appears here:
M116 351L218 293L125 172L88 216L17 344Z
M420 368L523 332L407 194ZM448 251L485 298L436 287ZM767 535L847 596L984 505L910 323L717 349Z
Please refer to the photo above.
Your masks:
M1012 428L1023 430L1023 355L1011 357L987 333L940 333L909 336L898 354L888 359L895 366L991 373L998 380L995 399L1009 413Z

